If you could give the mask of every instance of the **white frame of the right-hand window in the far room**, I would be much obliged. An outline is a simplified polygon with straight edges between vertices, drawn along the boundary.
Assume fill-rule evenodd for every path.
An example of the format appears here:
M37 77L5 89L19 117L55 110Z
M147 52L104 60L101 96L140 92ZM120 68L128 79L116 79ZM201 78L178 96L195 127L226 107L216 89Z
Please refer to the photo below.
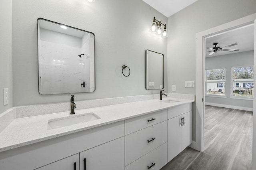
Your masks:
M252 97L248 97L248 96L234 96L233 95L233 83L242 83L242 84L244 84L244 83L254 83L254 78L252 79L252 80L250 80L250 81L234 81L233 80L233 69L234 68L237 68L237 67L253 67L253 69L254 69L254 65L242 65L242 66L233 66L233 67L231 67L231 69L230 69L230 71L231 71L231 73L230 73L230 79L231 79L231 81L230 81L230 99L243 99L243 100L253 100L253 98L254 98L254 94L253 94L253 96ZM236 84L235 84L235 87L237 87L236 86ZM243 86L243 85L242 85ZM239 87L239 85L238 85L238 87Z

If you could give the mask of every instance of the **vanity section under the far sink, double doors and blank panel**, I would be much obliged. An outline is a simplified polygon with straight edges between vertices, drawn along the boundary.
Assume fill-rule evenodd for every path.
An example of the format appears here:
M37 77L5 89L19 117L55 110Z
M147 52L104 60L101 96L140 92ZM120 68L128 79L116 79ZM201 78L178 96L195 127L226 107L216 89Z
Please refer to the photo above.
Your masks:
M168 110L170 117L175 116L168 119L168 162L192 143L191 104L183 107L183 114L177 108Z

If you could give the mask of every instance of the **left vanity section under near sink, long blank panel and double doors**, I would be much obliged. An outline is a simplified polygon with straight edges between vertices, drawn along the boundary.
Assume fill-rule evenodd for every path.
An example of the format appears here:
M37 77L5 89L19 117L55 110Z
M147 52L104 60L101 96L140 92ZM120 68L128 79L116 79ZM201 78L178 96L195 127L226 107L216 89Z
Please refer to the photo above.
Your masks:
M106 147L106 150L102 150L104 146L109 148ZM117 159L115 156L116 152L120 152L117 161L122 164L122 168L118 167L118 169L124 169L124 121L82 130L80 132L1 152L0 170L34 170L36 168L42 168L42 170L44 170L44 166L46 166L47 170L58 170L62 168L51 167L55 167L59 162L60 164L65 162L65 165L67 164L65 167L71 167L72 169L68 168L68 170L73 170L74 160L69 161L73 158L73 155L78 154L79 156L80 152L83 153L84 151L90 153L90 149L96 150L95 152L97 153L95 154L97 154L97 156L100 157L100 155L104 155L104 159L112 161ZM103 158L100 158L98 162L94 160L97 162L94 164L100 164L99 161L101 160L103 160ZM83 160L79 161L79 158L76 160L77 170L79 170L81 161ZM90 163L88 162L88 166L89 165ZM103 164L101 164L101 166L102 165Z

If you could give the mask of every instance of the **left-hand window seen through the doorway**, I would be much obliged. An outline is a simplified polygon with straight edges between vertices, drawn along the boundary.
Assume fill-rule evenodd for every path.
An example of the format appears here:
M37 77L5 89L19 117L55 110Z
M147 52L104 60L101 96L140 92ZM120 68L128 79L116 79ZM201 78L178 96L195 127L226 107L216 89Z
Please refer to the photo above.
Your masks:
M207 94L225 95L226 69L206 70Z

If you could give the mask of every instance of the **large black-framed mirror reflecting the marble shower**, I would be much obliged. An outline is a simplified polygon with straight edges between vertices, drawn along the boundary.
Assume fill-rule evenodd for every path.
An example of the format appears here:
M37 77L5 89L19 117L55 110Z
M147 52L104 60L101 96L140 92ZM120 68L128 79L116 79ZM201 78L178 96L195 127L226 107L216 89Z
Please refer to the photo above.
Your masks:
M92 32L38 18L39 93L95 91L95 42Z

